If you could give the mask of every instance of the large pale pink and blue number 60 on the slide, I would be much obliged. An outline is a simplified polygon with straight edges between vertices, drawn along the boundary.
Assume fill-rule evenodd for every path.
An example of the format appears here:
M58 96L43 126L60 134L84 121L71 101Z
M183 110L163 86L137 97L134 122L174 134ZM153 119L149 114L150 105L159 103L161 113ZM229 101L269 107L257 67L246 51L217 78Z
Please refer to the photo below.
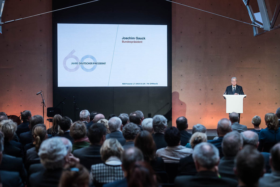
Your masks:
M79 69L79 67L80 67L80 64L77 64L75 68L72 68L72 69L71 69L71 68L68 68L67 65L66 65L66 61L67 61L69 58L74 58L74 59L76 60L76 62L83 62L85 59L91 58L94 62L97 62L96 59L94 58L94 56L92 56L92 55L85 55L85 56L82 57L82 59L81 59L81 61L80 61L79 58L78 58L77 56L73 55L74 53L75 53L75 49L73 49L73 50L64 58L64 60L63 60L63 67L64 67L64 69L67 70L68 72L75 72L75 71L77 71L77 70ZM82 70L84 70L85 72L92 72L93 70L95 70L96 66L97 66L97 65L95 64L92 68L88 69L88 68L85 68L83 64L81 64L81 68L82 68Z

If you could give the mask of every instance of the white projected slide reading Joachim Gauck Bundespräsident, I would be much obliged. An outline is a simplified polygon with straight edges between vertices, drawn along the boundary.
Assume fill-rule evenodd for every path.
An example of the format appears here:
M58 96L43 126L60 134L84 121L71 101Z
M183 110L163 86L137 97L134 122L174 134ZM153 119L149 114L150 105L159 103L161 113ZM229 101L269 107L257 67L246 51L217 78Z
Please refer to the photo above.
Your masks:
M57 24L59 87L167 86L167 25Z

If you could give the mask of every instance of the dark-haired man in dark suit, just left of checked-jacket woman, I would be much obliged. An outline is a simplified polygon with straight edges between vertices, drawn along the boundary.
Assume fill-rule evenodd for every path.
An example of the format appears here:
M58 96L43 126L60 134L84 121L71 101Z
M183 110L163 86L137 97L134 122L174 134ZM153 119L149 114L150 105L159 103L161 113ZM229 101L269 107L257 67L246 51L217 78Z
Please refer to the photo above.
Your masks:
M106 127L101 123L95 123L88 129L90 146L73 151L73 155L80 159L80 163L89 171L93 164L102 163L100 148L106 140Z

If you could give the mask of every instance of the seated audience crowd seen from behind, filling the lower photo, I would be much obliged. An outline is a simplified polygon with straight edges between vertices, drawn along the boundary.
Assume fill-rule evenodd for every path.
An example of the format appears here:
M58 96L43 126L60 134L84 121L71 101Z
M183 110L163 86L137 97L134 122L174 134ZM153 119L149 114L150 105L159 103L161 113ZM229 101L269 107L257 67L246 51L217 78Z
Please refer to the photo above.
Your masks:
M188 132L186 117L167 127L163 115L141 111L108 119L96 111L80 120L55 115L47 129L25 110L17 125L0 112L0 186L278 186L280 107L252 127L237 113L217 122L208 140L202 124Z

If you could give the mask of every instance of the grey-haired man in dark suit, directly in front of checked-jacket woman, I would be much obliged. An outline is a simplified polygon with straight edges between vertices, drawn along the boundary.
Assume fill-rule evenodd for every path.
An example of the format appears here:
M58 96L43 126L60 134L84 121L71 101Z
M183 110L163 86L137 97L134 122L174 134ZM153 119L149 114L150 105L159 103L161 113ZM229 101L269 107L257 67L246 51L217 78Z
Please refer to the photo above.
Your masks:
M112 117L108 121L108 126L111 133L106 135L106 139L116 138L123 146L126 140L124 139L123 133L121 132L121 119L119 119L118 117Z

